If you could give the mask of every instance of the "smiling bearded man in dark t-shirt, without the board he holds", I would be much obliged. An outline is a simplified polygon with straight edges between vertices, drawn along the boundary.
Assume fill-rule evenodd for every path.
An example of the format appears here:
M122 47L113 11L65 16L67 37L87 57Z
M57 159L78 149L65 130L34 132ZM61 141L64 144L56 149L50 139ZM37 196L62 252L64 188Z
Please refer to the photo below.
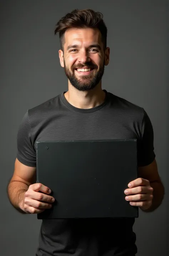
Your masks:
M36 141L136 138L139 178L126 184L124 200L144 212L155 210L164 187L155 160L153 127L142 107L102 90L110 49L101 13L73 10L57 23L57 32L68 91L24 115L8 186L10 202L22 213L37 214L55 200L50 188L36 183ZM36 256L134 256L133 224L134 218L45 219Z

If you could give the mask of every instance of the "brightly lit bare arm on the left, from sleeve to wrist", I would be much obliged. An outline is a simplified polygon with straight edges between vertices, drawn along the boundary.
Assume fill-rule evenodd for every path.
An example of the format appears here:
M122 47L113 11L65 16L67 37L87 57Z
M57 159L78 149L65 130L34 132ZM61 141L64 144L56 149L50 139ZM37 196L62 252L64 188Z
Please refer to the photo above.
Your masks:
M26 166L16 158L14 174L7 186L7 194L10 203L21 213L25 213L22 210L25 192L34 183L36 183L36 167Z

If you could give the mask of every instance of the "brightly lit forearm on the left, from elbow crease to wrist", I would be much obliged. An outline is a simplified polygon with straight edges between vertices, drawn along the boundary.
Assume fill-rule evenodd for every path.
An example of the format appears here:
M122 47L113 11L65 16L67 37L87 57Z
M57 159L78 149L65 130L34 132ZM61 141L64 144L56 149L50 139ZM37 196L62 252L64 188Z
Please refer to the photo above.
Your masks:
M20 204L23 202L25 192L28 190L28 188L29 186L20 181L11 181L7 188L10 203L20 213L25 213L23 210L21 210Z

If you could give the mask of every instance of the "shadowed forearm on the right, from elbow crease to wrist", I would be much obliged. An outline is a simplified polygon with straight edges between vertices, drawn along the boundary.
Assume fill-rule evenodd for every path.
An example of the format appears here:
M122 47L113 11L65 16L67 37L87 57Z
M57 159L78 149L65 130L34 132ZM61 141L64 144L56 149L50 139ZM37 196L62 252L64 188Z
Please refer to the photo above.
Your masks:
M143 212L153 212L157 209L163 201L165 189L161 182L150 182L150 186L153 188L153 200L149 209L143 210Z

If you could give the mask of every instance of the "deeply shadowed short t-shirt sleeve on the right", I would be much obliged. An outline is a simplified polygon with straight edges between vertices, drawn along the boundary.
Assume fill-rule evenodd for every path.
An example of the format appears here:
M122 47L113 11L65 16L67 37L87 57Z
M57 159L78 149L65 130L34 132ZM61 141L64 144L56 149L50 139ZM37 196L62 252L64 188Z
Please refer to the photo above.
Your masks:
M155 158L153 126L145 110L142 123L142 138L138 142L137 153L138 166L149 165Z

